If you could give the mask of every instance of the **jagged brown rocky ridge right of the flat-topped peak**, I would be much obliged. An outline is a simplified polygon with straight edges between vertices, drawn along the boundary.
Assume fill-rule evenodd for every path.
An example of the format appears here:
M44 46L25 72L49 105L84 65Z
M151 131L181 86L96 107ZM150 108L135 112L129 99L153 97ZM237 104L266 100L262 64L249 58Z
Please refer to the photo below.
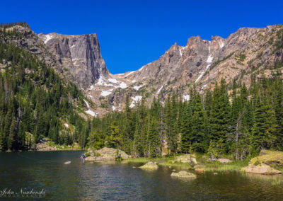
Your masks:
M100 101L104 100L115 110L122 108L125 94L129 94L134 107L141 97L147 103L157 96L164 101L172 91L178 91L185 101L190 98L192 84L203 93L207 88L213 89L221 78L227 83L241 80L249 86L251 74L268 77L275 68L282 72L282 47L283 25L241 28L226 39L215 36L209 41L191 37L185 47L175 44L158 60L137 71L112 75L117 81L125 82L127 88L118 91L108 88L107 100L101 93Z

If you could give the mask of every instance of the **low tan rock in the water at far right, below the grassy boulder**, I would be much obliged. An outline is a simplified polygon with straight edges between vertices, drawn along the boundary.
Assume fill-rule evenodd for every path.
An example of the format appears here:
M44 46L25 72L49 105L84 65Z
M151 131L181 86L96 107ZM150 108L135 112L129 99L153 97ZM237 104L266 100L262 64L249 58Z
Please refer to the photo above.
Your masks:
M265 164L260 164L258 166L250 164L242 168L241 171L244 171L246 173L256 173L256 174L264 174L264 175L275 175L281 173L281 171L278 171L275 168L272 168Z

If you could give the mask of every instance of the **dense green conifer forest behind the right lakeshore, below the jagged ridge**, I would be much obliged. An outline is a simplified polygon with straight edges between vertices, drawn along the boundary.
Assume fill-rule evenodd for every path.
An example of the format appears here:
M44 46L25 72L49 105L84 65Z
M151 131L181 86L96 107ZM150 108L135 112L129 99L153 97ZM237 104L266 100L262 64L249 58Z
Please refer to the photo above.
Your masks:
M190 101L171 93L164 104L144 99L129 108L127 96L122 113L93 119L88 147L114 147L137 157L157 157L191 151L233 154L243 160L261 149L283 149L283 82L251 77L250 87L224 79L200 94L192 86Z

